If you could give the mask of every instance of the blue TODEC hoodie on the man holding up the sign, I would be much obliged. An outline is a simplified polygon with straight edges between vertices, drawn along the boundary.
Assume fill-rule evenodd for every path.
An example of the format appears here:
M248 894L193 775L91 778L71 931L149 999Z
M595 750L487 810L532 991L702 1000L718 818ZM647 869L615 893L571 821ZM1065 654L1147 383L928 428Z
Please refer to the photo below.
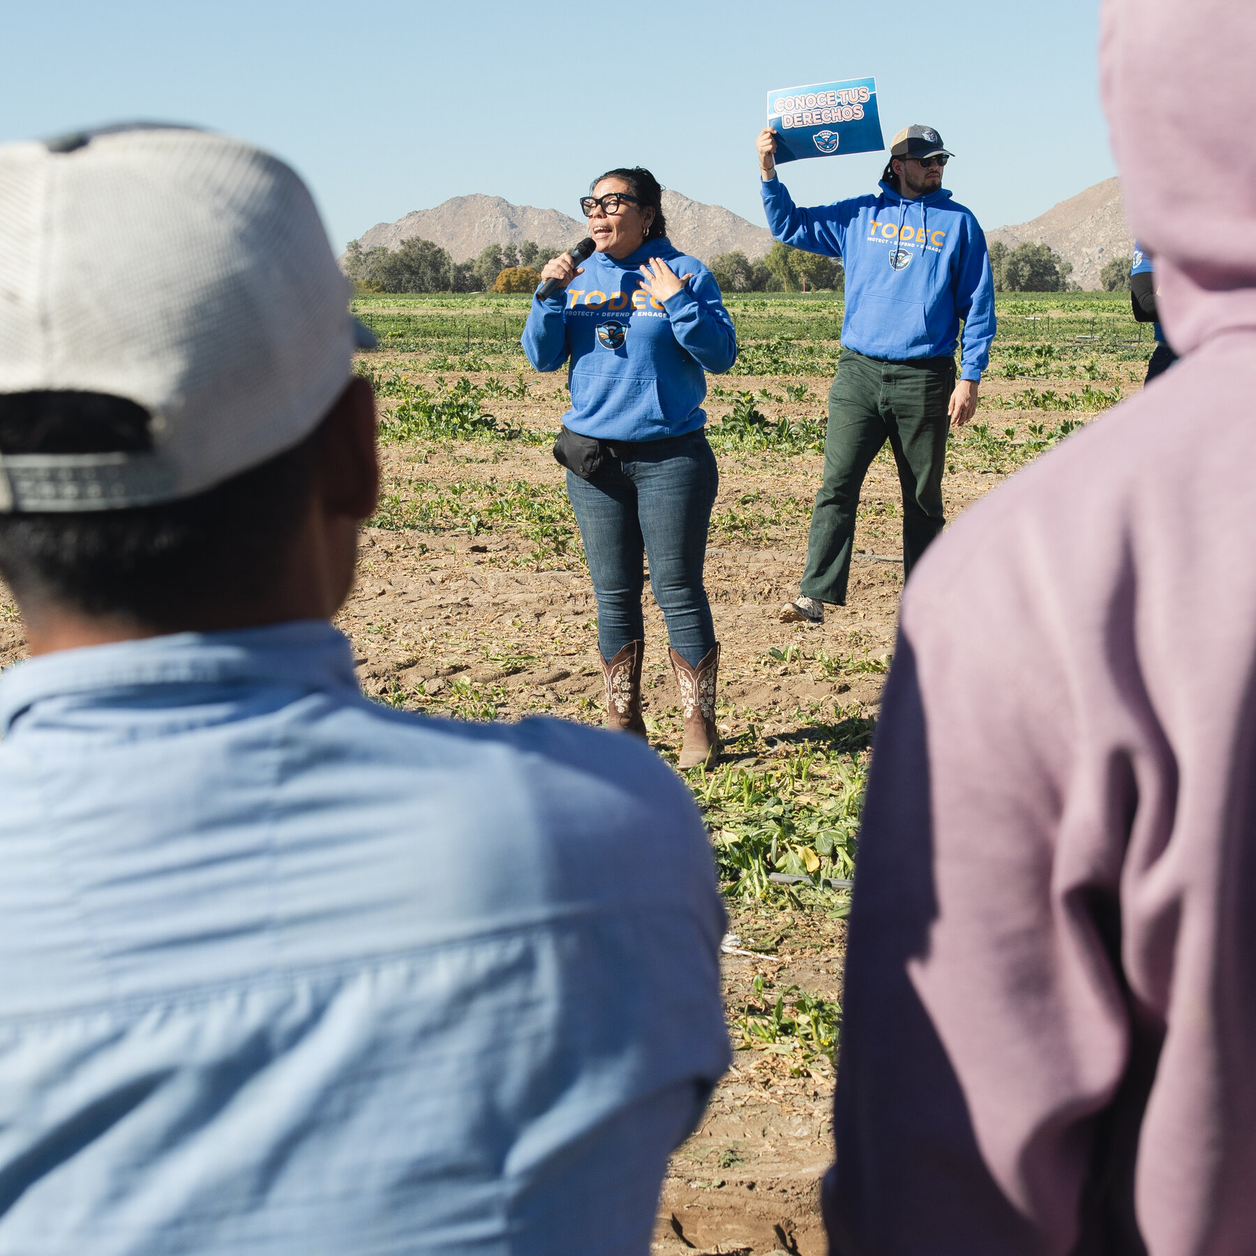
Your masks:
M950 358L962 318L960 378L981 378L995 338L995 281L971 210L946 191L908 200L889 183L877 196L800 210L780 180L760 182L777 240L842 259L845 348L892 362Z

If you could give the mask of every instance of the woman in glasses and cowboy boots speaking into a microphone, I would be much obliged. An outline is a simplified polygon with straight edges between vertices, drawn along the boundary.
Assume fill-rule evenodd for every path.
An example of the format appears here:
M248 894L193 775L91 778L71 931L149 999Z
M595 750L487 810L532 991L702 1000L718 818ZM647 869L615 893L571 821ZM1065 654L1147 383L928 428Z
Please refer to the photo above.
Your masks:
M533 299L522 344L538 371L568 364L571 408L554 457L598 599L607 722L646 736L644 554L685 711L679 765L695 767L720 752L720 644L702 583L720 475L705 372L736 362L737 337L715 276L668 241L662 191L639 166L589 185L580 208L597 251L579 268L566 252L545 265L541 279L563 288Z

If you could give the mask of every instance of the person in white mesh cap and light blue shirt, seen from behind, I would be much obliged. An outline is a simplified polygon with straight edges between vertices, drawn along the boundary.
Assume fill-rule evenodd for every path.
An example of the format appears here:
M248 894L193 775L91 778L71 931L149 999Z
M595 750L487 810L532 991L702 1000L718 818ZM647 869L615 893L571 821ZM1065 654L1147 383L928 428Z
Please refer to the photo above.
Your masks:
M0 147L0 1256L646 1253L726 1068L671 770L357 688L347 301L255 148Z

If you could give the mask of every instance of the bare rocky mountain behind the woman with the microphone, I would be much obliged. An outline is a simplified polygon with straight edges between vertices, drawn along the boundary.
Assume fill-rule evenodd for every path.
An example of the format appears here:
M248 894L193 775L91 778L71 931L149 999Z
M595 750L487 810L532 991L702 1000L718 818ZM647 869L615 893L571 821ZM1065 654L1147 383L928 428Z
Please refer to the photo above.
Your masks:
M679 192L663 192L663 214L677 249L707 261L740 249L761 257L772 245L766 227L756 227L722 205L703 205ZM413 210L396 222L377 222L359 237L363 249L397 249L402 240L421 236L447 250L455 261L479 256L490 244L536 244L566 249L584 236L584 222L559 210L511 205L500 196L455 196L433 210Z

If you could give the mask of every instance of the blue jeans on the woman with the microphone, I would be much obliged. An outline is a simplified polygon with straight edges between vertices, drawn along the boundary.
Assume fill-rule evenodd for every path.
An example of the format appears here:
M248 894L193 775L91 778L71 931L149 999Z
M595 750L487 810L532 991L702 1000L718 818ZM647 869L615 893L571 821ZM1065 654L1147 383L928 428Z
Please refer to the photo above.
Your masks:
M715 455L700 430L666 441L613 442L592 480L568 471L580 539L598 599L598 649L614 656L646 636L641 594L649 584L672 648L691 667L715 646L702 587L707 528L720 486Z

